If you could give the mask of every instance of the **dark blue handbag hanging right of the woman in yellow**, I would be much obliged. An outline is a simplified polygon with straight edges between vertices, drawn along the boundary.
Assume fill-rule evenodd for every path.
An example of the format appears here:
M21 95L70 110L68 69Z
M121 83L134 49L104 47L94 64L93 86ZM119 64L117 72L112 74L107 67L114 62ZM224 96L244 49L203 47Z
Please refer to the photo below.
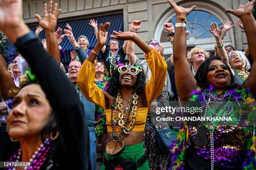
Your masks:
M169 146L177 140L177 135L173 130L157 130L156 129L156 141L160 150L169 152Z

